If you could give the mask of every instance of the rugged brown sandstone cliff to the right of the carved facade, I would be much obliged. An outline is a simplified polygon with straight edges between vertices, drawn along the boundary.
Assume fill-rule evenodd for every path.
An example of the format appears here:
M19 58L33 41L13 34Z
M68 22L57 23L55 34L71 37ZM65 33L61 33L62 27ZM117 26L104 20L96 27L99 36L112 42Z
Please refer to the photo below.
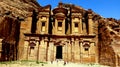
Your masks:
M116 59L116 51L119 52L120 35L117 28L120 28L119 21L107 18L99 20L98 32L98 48L99 48L99 62L104 65L116 66L119 62Z

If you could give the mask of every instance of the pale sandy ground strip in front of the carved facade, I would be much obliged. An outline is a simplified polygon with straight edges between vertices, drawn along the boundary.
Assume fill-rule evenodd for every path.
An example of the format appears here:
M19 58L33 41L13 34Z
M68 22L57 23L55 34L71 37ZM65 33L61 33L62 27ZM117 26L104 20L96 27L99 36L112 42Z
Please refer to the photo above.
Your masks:
M4 62L0 63L0 67L109 67L99 64L77 64L77 63L66 63L64 61L54 61L51 62L31 62L31 61L14 61L14 62Z

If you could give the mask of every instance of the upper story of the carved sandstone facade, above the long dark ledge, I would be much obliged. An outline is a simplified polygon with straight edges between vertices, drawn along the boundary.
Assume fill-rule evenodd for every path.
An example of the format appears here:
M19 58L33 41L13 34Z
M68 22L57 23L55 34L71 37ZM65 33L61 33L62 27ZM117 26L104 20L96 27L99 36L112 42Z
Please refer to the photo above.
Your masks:
M26 23L24 23L26 22ZM92 35L94 34L93 13L74 5L59 3L51 10L45 6L21 23L24 33L53 35Z

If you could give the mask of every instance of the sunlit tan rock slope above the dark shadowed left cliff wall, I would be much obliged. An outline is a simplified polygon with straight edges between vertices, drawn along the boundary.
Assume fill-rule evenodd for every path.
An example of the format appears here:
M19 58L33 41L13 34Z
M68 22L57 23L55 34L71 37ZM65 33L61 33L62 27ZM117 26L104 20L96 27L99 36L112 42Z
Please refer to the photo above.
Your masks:
M29 12L40 8L35 0L0 0L0 15L27 17Z

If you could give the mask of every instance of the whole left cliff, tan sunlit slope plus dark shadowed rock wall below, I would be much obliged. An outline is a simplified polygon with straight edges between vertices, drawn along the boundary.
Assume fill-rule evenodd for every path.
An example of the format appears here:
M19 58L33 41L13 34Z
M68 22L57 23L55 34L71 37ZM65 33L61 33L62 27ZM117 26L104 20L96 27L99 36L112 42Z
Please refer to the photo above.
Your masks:
M39 8L35 0L0 0L0 38L3 39L1 60L17 59L20 22Z

